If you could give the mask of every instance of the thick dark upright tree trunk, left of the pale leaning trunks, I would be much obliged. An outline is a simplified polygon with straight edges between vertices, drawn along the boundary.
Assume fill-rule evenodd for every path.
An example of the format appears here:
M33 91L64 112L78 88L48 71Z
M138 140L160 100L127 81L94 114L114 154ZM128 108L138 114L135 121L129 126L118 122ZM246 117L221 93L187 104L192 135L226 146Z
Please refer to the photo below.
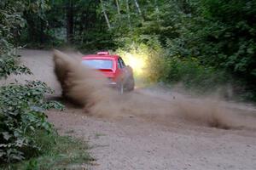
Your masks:
M73 40L73 0L67 0L67 42Z

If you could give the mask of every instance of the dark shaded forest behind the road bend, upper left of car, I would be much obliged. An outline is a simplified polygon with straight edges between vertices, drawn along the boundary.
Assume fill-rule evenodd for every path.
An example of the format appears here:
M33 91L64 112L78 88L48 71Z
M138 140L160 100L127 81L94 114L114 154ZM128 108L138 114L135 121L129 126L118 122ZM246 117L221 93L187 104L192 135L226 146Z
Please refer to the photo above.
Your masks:
M113 48L113 33L106 27L99 1L40 1L44 5L38 7L39 11L32 8L24 11L26 26L19 44L30 48L66 45L83 50Z

